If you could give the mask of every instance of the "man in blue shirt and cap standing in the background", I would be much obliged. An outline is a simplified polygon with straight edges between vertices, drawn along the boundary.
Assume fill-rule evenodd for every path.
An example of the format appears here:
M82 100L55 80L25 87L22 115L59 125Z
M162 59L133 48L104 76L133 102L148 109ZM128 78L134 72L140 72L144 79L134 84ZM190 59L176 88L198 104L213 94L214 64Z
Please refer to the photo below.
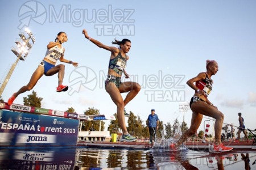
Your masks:
M159 118L158 115L155 114L155 109L151 109L151 114L147 118L147 128L150 133L150 144L153 142L153 138L155 140L156 130L158 130Z

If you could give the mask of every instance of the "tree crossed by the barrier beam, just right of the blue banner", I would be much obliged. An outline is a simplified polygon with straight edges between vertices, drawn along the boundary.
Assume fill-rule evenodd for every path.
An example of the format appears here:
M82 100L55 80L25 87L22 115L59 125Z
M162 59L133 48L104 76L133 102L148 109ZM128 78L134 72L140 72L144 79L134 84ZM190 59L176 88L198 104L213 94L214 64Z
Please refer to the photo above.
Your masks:
M94 109L94 108L88 108L88 110L86 110L84 112L85 115L97 115L100 114L100 110L98 109ZM100 121L84 121L82 122L82 126L84 126L84 130L89 131L89 129L92 127L96 129L96 130L100 130ZM105 129L105 122L101 121L101 130Z

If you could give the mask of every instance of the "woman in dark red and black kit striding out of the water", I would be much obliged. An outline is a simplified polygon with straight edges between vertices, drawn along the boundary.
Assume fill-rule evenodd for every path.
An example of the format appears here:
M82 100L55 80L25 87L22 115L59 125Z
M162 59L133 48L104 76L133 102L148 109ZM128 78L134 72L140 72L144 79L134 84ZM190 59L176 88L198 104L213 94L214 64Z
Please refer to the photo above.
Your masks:
M172 143L171 148L177 149L184 141L186 141L193 134L196 134L199 128L203 116L209 116L216 119L214 130L215 130L215 143L213 144L213 151L215 152L225 152L230 151L232 147L225 147L221 143L221 128L224 121L224 114L218 111L209 100L208 95L212 91L211 79L212 75L215 75L218 71L218 63L214 60L207 60L207 72L199 73L196 77L188 80L187 84L193 90L195 94L191 98L190 107L193 111L191 118L191 126L186 130L177 143ZM194 84L195 83L195 84Z

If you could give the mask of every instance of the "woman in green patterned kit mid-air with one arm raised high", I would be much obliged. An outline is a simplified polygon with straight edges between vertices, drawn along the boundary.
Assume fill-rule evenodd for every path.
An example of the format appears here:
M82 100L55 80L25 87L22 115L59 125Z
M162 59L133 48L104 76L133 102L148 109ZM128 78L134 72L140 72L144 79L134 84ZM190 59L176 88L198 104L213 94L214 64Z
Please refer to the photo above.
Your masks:
M125 67L126 62L129 59L129 56L127 56L126 53L128 53L131 48L131 41L128 39L123 39L122 41L115 40L112 42L112 44L119 45L119 48L116 48L114 46L106 46L100 41L92 39L88 36L85 29L82 31L82 33L84 34L85 38L92 41L93 44L111 52L108 75L105 81L105 90L108 92L115 105L117 105L117 118L123 132L120 141L136 141L136 138L131 136L127 131L125 125L125 115L123 113L125 105L138 94L138 92L141 90L141 86L135 82L121 82L122 73L125 74L125 78L129 78L129 75L125 71ZM129 92L125 97L125 100L123 100L121 96L121 93L123 92Z

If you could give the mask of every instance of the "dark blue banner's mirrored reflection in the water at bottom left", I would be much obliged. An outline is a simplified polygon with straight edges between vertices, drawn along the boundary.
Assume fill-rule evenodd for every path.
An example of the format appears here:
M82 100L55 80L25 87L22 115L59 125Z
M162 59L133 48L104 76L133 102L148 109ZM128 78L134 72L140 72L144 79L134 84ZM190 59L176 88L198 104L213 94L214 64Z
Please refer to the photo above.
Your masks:
M76 149L9 148L0 149L1 169L73 169Z

